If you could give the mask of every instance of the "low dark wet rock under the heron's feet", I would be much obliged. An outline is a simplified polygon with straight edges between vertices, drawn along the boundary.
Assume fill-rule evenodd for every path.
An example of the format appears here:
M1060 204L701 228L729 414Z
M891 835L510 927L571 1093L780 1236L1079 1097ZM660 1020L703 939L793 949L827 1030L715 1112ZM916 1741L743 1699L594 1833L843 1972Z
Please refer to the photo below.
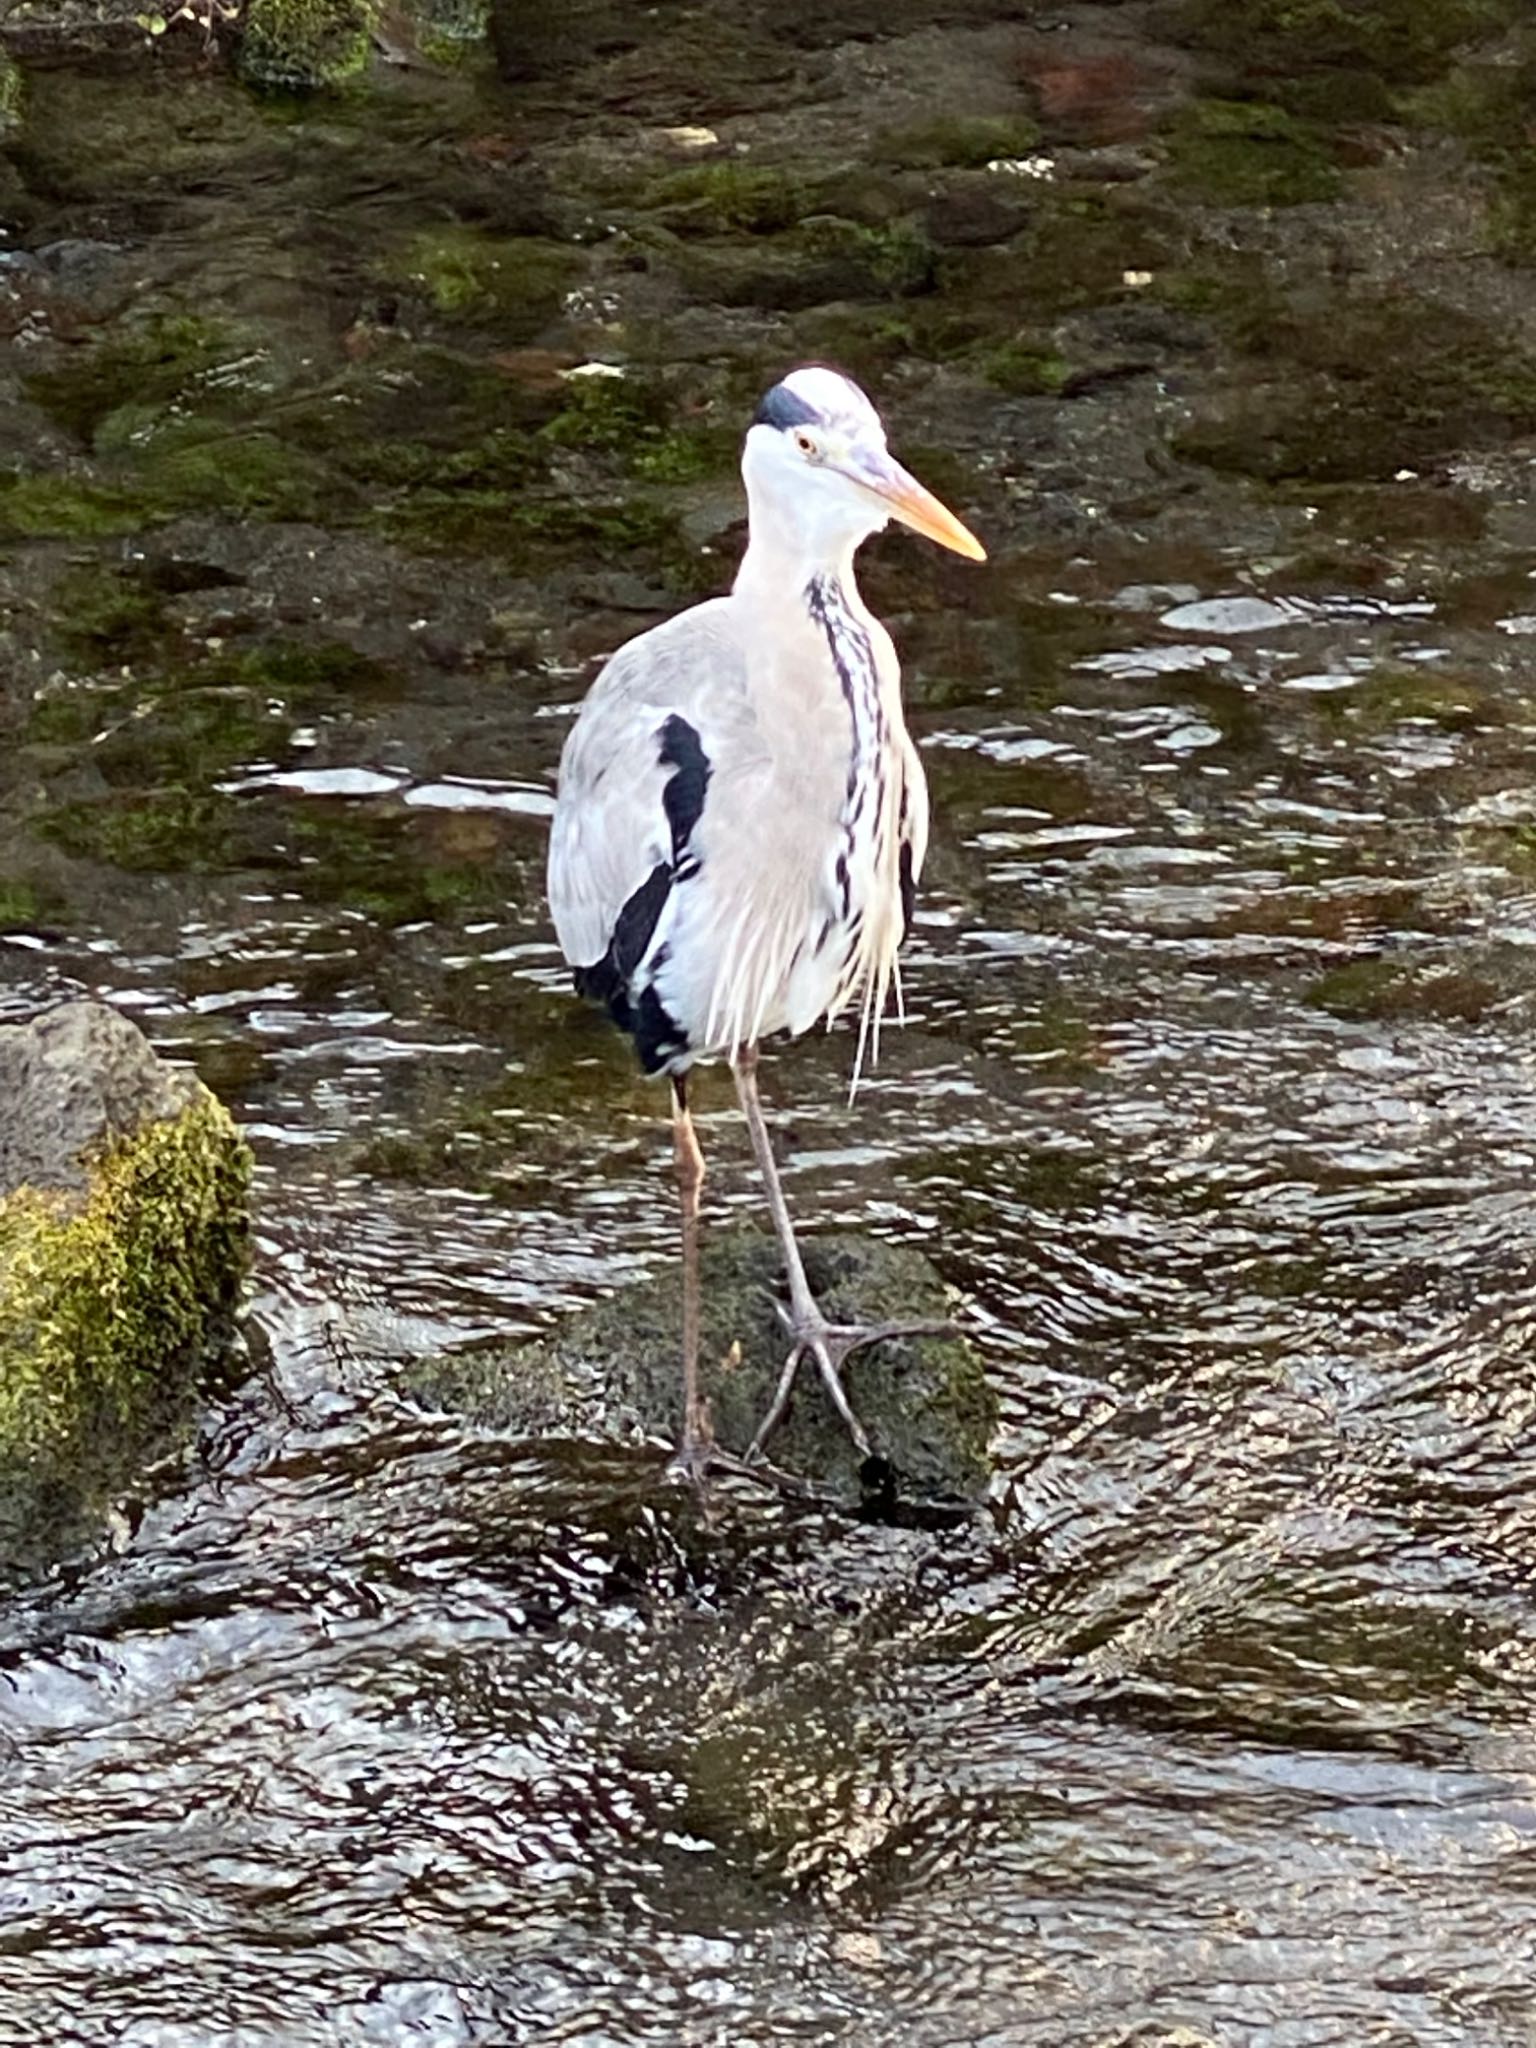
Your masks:
M805 1270L834 1323L930 1323L952 1313L932 1264L909 1245L872 1237L811 1237ZM737 1233L702 1253L700 1376L719 1442L743 1452L768 1411L786 1337L778 1247ZM682 1278L672 1268L573 1315L551 1337L469 1352L416 1368L406 1391L524 1436L676 1440L682 1427ZM893 1497L915 1505L979 1499L989 1475L997 1403L981 1360L954 1333L899 1337L854 1352L848 1397L889 1468ZM838 1421L815 1366L768 1454L856 1505L868 1475ZM885 1483L885 1481L883 1481Z

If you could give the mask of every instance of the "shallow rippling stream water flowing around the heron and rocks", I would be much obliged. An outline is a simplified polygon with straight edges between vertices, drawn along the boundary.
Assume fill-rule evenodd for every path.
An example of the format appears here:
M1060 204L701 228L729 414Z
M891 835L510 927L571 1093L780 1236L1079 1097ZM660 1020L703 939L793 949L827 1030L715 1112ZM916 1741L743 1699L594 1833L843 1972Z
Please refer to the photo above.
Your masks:
M936 66L1049 117L1004 12L807 29L715 125L807 176L850 104L911 129ZM1081 160L1163 178L1174 59L1106 14L1141 129L956 170L967 221L1044 197L952 244L922 199L922 289L860 199L887 270L836 319L825 285L711 297L809 256L678 219L723 205L666 190L696 145L662 127L711 115L682 59L594 59L580 133L565 88L430 72L276 109L35 82L0 1016L98 993L197 1061L260 1264L258 1370L115 1556L0 1612L0 2040L1536 2040L1528 444L1505 408L1440 451L1384 418L1323 475L1188 453L1255 379L1350 385L1294 334L1255 371L1214 287L1190 311L1210 252L1241 229L1313 309L1329 236L1352 289L1397 248L1432 291L1391 238L1462 172L1415 141L1311 207L1169 184L1061 303L1051 209L1094 264L1120 190ZM1051 47L1098 51L1071 20ZM887 213L944 186L870 158ZM983 375L985 233L1057 291L1055 389ZM543 250L543 311L489 236ZM1438 256L1448 297L1493 276ZM1530 274L1497 289L1536 344ZM977 324L954 360L934 297ZM549 786L602 653L729 573L743 408L838 319L995 543L868 551L936 813L911 1022L852 1108L846 1032L768 1073L799 1212L922 1241L971 1305L1004 1423L942 1532L729 1489L700 1522L659 1452L397 1393L674 1257L662 1102L545 924ZM571 399L592 356L637 414ZM752 1217L729 1087L700 1102L711 1217Z

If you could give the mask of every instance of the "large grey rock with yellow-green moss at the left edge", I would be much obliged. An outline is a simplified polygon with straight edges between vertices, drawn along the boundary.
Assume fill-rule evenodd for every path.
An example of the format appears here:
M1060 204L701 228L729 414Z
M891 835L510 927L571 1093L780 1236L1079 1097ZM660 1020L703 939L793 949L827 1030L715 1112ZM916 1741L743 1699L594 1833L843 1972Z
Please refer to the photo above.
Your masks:
M0 1573L158 1450L225 1354L250 1155L104 1004L0 1026Z

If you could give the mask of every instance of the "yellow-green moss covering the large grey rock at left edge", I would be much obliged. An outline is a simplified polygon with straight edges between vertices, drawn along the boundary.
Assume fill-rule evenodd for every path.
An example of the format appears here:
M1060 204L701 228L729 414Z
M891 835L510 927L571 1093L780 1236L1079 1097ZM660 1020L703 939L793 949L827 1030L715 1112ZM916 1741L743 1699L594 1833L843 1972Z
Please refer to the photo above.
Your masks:
M248 1260L250 1155L199 1087L88 1163L84 1200L0 1198L0 1448L59 1454L143 1423L178 1362L231 1317ZM182 1368L184 1370L184 1368Z

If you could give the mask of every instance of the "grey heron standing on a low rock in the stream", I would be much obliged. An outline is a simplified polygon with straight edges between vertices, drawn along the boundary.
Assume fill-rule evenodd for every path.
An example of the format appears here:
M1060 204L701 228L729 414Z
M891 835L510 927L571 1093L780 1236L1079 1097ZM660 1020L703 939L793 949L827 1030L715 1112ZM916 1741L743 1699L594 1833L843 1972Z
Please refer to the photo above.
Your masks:
M791 1350L748 1458L807 1356L868 1456L840 1366L897 1329L831 1325L811 1294L758 1044L858 1004L858 1073L928 842L895 647L860 598L854 553L897 518L985 559L889 455L881 416L840 371L809 365L768 391L741 475L748 549L729 596L641 633L602 668L561 754L549 842L549 905L578 991L606 1004L647 1073L672 1081L684 1268L674 1462L694 1479L717 1460L698 1393L698 1061L731 1063L788 1282Z

